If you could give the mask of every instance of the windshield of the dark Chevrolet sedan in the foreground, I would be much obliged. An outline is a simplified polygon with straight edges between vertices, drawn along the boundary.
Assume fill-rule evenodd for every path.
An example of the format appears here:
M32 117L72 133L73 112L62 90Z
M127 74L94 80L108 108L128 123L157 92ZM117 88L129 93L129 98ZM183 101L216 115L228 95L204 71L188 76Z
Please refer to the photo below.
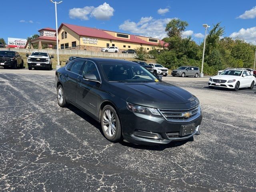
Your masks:
M158 82L151 72L139 64L102 63L106 80L109 82Z

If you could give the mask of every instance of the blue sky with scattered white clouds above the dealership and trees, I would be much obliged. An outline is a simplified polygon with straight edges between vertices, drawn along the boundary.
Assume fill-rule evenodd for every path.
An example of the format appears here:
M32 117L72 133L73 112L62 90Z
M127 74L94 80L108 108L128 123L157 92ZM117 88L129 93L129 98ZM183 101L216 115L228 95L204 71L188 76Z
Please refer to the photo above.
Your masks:
M203 40L202 24L222 22L224 36L256 40L254 0L63 0L58 5L58 26L63 23L163 38L172 18L188 22L184 36ZM1 1L0 38L27 38L45 27L55 28L50 0ZM254 8L255 7L255 8ZM247 12L246 12L247 11ZM238 18L240 16L240 18Z

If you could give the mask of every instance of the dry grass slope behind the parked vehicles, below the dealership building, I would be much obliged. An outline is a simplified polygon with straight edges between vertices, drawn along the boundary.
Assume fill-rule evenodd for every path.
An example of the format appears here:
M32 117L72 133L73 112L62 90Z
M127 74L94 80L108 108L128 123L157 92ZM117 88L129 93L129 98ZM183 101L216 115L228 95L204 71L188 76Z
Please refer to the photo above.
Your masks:
M26 53L21 53L19 52L20 56L23 57L23 60L24 60L24 66L26 68L28 68L28 60L27 60L27 57L26 57ZM57 65L57 54L54 54L53 55L54 58L52 59L52 68L56 69L56 65ZM87 56L87 55L59 55L59 60L61 62L61 66L64 66L66 64L66 60L68 60L68 58L70 56L77 56L77 57L88 57L88 58L92 58L92 57L96 57L96 56ZM104 58L111 58L111 57L104 57ZM114 58L114 59L125 59L125 60L128 60L128 61L133 61L133 60L137 60L136 58ZM155 63L156 60L154 59L146 59L146 62L147 63Z

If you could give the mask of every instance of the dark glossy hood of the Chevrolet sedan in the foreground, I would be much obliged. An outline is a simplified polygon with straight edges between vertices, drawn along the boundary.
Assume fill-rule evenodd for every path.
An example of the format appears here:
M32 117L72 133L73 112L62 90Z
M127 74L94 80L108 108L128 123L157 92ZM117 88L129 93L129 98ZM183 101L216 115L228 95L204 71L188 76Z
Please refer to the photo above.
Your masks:
M166 82L114 82L111 85L115 87L112 90L116 90L116 94L119 97L137 105L154 108L187 109L199 104L199 101L194 95Z

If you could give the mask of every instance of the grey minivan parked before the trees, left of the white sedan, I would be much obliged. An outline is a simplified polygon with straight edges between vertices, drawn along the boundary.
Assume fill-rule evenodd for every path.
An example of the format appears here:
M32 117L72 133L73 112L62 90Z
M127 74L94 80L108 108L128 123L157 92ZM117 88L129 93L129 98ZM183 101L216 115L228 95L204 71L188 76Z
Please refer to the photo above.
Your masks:
M200 74L200 70L198 67L190 67L190 66L182 66L172 71L172 76L198 77L199 74Z

